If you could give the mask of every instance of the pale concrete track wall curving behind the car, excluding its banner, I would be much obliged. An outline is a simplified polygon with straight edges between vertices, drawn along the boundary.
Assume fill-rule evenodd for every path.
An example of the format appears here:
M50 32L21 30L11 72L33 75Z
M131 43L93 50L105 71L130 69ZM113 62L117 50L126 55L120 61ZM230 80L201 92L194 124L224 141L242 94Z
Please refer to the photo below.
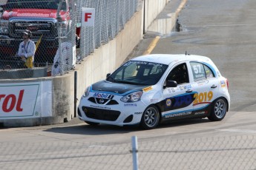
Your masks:
M142 39L143 19L147 18L147 23L151 23L158 13L163 10L169 0L145 0L145 17L142 7L125 24L122 30L114 40L96 49L93 54L86 57L81 63L76 65L76 69L58 77L48 78L30 78L19 80L0 80L0 84L16 84L21 82L51 81L53 92L53 117L49 118L28 118L1 120L0 126L40 126L69 121L74 117L74 72L77 72L77 98L79 99L86 86L105 78L108 72L113 72L119 67L129 53ZM154 13L151 14L151 13ZM148 24L146 27L148 27ZM77 103L78 104L78 103ZM1 113L0 113L1 114Z

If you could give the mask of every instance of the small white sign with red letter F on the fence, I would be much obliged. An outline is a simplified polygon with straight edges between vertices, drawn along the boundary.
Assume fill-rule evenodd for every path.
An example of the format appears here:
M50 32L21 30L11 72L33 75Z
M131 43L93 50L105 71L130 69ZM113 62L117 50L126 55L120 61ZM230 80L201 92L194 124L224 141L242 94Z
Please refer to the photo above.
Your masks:
M82 7L82 27L94 27L95 9Z

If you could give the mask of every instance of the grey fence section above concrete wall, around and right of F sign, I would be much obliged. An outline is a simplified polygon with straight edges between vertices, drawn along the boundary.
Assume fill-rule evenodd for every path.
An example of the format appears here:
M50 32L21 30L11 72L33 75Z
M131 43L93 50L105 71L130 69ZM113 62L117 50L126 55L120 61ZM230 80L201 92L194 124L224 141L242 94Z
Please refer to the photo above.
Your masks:
M111 41L137 11L137 4L138 0L79 0L78 13L82 7L95 8L96 16L95 27L81 28L79 59ZM81 16L77 16L77 21L81 21Z

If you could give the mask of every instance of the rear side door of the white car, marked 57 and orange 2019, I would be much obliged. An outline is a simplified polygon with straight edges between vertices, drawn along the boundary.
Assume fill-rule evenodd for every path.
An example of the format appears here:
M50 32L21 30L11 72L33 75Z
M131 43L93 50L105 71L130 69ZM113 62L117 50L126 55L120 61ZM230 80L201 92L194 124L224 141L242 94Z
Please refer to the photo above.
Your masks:
M189 67L193 75L193 115L208 115L211 102L218 96L217 75L210 64L191 61Z

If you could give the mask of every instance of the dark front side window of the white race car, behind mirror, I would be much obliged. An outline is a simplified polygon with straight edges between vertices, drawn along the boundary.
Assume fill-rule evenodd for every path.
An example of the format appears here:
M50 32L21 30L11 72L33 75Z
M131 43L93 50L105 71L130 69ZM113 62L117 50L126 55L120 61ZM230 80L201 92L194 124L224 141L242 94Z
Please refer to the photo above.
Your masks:
M176 81L177 84L189 83L188 68L186 66L186 63L174 67L174 69L172 69L169 73L167 79L171 81Z

